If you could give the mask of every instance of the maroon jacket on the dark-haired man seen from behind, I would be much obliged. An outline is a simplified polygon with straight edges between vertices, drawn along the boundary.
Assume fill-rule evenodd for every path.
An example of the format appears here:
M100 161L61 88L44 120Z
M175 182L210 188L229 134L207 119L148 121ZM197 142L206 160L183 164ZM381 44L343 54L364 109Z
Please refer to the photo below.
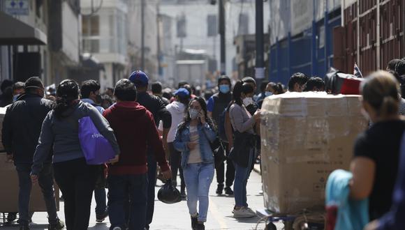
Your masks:
M117 102L103 116L114 130L121 150L119 162L108 167L109 174L146 174L148 145L153 146L162 171L169 169L154 117L145 107L138 102Z

